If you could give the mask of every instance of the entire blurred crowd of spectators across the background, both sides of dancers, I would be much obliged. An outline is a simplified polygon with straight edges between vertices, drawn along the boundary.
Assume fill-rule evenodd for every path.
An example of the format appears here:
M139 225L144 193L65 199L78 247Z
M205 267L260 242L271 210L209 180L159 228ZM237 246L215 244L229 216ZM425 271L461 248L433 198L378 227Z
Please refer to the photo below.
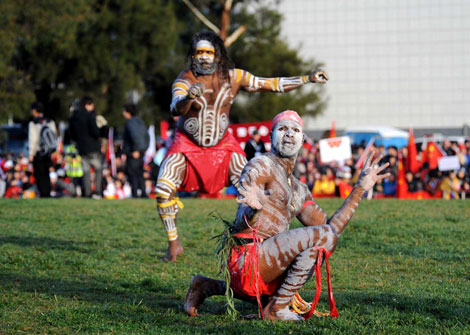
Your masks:
M153 141L149 149L148 132L133 105L123 107L122 141L109 138L106 120L96 115L93 100L81 99L69 120L71 143L63 145L53 121L47 119L40 104L31 106L28 125L29 156L0 154L0 197L92 197L125 199L154 197L159 164L170 141ZM47 129L48 128L48 129ZM49 131L50 130L50 131ZM57 136L57 138L55 138ZM319 142L308 139L299 154L294 174L311 190L314 198L343 197L352 190L363 160L370 150L383 155L389 163L390 177L378 182L369 198L444 198L466 199L470 196L470 142L444 140L435 149L447 156L457 156L459 168L440 171L426 150L409 164L408 147L366 147L353 145L352 158L323 164ZM432 148L431 148L432 149ZM247 158L265 152L255 131L245 146ZM416 165L415 164L415 165ZM216 195L182 194L181 196L235 196L231 187Z

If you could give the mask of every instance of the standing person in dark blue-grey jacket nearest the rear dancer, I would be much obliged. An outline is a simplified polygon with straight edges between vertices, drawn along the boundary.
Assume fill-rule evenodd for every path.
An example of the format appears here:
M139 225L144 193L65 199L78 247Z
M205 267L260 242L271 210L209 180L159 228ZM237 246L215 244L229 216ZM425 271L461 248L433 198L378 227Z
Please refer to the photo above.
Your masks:
M137 116L135 105L124 105L122 115L126 119L122 149L126 155L126 170L132 188L132 197L145 198L144 155L149 145L147 127Z

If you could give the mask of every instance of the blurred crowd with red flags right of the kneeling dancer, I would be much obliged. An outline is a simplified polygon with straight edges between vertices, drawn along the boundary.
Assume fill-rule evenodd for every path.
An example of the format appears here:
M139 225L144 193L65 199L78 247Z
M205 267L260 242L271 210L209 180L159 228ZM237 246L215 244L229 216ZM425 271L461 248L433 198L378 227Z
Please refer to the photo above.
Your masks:
M450 171L440 171L437 160L426 160L426 151L417 153L417 167L411 171L408 148L397 149L394 146L367 148L383 155L380 164L389 163L385 172L390 177L378 182L369 192L370 198L444 198L466 199L470 196L470 142L459 145L445 140L442 148L433 143L434 150L439 150L448 156L457 156L460 167ZM433 148L431 148L433 149ZM361 159L364 159L365 145L353 145L353 157L342 164L333 162L322 164L318 142L303 148L298 157L294 174L307 184L314 198L342 197L345 198L357 181Z

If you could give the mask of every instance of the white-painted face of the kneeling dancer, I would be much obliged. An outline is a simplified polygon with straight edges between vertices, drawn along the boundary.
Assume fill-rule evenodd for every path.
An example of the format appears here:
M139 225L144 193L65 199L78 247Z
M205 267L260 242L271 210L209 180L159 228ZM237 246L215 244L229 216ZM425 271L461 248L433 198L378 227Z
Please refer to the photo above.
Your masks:
M304 142L304 133L299 123L283 120L274 128L272 135L273 149L281 157L297 155Z

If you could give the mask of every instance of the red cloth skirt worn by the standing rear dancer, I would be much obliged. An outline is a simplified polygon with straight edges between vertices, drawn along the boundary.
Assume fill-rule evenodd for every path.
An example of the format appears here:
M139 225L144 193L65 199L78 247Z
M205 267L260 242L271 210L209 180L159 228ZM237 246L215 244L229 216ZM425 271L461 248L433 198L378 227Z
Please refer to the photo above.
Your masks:
M186 175L181 191L201 191L213 194L230 185L228 170L232 153L246 156L240 144L230 132L213 147L201 147L184 133L177 131L168 155L182 153L186 157Z

